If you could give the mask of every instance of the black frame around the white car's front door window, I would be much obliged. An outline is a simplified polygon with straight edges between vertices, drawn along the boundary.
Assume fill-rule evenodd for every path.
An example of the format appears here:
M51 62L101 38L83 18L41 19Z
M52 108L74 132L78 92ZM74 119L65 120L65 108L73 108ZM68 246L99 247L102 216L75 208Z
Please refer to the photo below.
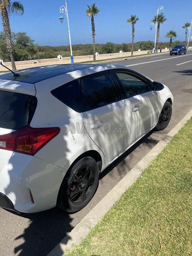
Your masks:
M133 70L130 71L130 70L121 68L121 69L112 69L111 72L113 73L113 76L116 79L119 87L121 87L123 99L129 99L129 98L134 97L136 95L140 95L140 94L143 94L143 93L146 93L146 92L154 91L154 89L151 86L151 83L150 83L149 79L145 76L140 75L140 74L138 75L138 73L134 72ZM141 92L141 93L135 93L135 94L131 95L130 97L127 97L125 89L123 87L123 84L122 84L121 80L118 78L116 73L124 73L124 74L127 74L127 75L131 75L135 78L139 78L142 82L146 83L149 90L145 91L145 92Z

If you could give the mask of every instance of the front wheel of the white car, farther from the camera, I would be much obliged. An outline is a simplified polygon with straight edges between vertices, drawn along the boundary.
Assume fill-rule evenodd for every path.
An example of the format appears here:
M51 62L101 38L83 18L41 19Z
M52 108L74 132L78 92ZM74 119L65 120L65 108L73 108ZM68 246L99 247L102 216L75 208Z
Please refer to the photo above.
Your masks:
M172 105L169 101L166 101L161 111L161 114L159 116L158 123L154 130L155 131L164 130L170 122L171 115L172 115Z

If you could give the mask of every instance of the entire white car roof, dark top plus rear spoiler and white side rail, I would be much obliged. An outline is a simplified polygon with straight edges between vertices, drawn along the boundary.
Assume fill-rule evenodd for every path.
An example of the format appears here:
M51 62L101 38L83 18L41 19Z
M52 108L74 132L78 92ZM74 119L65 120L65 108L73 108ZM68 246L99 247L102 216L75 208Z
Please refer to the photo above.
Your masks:
M0 90L35 95L36 93L53 90L54 88L79 77L111 69L126 69L132 74L139 75L142 78L147 78L152 81L149 77L138 71L134 71L133 69L122 65L65 64L18 70L15 73L19 74L19 76L14 76L11 72L2 74L0 75Z

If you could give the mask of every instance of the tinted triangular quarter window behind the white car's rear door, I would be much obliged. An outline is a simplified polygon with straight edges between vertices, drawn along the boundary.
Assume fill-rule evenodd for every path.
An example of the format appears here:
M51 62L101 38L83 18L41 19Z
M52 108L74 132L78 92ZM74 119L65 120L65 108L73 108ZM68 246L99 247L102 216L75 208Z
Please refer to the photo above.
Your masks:
M81 97L78 79L51 91L52 95L68 107L81 112Z

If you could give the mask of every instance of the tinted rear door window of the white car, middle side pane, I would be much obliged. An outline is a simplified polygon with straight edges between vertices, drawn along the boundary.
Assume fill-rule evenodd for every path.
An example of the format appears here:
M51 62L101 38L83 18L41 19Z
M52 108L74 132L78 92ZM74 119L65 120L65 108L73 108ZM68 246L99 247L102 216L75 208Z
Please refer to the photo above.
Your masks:
M81 78L83 111L98 108L119 99L109 73L94 74Z

